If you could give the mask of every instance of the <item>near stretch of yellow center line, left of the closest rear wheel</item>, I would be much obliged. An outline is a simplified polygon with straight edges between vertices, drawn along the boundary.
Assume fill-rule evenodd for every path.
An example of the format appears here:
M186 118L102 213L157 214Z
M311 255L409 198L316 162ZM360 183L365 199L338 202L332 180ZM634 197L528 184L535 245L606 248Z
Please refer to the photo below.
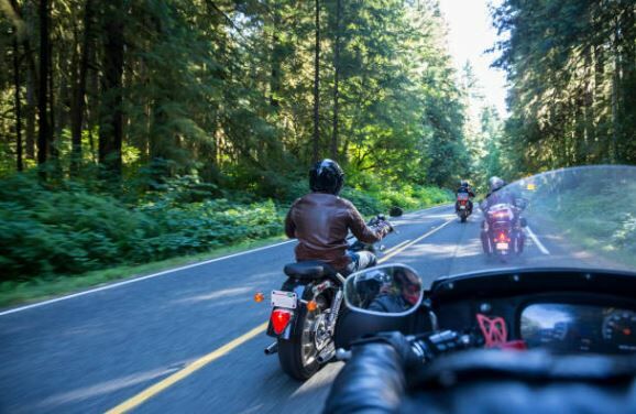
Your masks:
M141 393L134 395L133 397L124 401L123 403L119 404L114 408L107 411L107 414L119 414L119 413L127 413L132 408L143 404L146 400L153 397L154 395L158 394L160 392L164 391L168 386L174 385L176 382L183 380L184 378L190 375L193 372L200 370L208 363L221 358L222 356L227 355L234 348L239 347L240 345L246 342L248 340L252 339L256 335L260 335L267 329L267 323L265 322L254 329L250 330L249 333L238 337L237 339L223 345L219 349L197 359L186 368L180 371L177 371L169 375L168 378L163 379L162 381L157 382L156 384L145 389Z

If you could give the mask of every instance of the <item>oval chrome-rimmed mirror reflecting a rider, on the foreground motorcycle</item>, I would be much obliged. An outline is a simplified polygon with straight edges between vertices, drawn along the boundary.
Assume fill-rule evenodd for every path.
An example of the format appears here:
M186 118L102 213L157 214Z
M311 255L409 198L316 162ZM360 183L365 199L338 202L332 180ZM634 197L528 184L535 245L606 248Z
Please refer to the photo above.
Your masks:
M351 274L344 283L344 302L351 309L383 316L415 312L424 297L421 277L404 264L385 264Z

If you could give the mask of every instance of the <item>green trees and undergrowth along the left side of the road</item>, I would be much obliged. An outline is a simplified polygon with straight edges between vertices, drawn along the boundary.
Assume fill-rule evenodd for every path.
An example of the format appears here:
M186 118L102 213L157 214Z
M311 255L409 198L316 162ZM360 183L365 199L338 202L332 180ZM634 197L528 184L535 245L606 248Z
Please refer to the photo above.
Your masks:
M337 0L321 0L319 28L307 1L59 0L51 2L50 48L40 47L36 3L6 3L17 8L0 14L11 34L0 39L6 279L279 233L316 161L317 30L319 155L342 164L344 197L368 215L418 208L447 200L432 186L468 171L465 106L436 0L340 0L338 28ZM36 142L42 51L51 52L46 153ZM19 124L25 175L14 175ZM35 167L42 154L50 161Z

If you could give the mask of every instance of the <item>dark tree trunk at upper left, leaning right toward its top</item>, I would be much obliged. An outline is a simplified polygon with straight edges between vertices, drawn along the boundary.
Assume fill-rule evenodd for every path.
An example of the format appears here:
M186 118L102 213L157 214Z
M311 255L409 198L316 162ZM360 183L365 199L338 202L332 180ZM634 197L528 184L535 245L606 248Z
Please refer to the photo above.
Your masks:
M79 62L79 73L77 84L75 85L75 94L73 97L70 108L70 172L75 174L79 168L81 162L81 126L84 122L84 100L86 96L86 77L88 73L88 56L90 53L90 39L92 36L92 2L94 0L86 0L84 7L84 40L81 45L81 57Z

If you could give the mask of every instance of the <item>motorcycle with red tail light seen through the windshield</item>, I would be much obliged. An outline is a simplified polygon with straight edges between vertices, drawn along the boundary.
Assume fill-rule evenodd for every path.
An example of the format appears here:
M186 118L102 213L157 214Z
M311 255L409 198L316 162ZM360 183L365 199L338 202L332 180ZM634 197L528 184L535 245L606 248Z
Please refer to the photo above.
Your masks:
M524 251L526 241L525 218L522 208L508 204L495 204L484 210L481 240L484 253L502 260Z

